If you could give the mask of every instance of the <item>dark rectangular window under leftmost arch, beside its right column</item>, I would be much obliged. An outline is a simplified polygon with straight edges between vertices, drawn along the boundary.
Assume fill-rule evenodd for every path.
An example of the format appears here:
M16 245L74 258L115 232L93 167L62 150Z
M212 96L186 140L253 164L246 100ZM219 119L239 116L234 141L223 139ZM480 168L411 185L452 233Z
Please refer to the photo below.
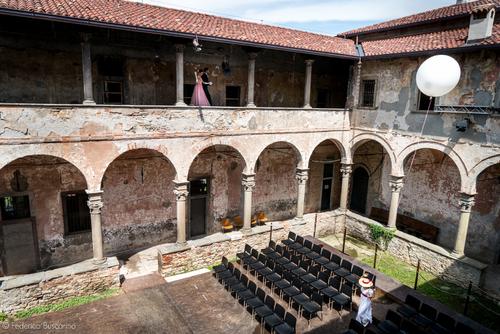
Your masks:
M85 191L62 193L66 234L90 231L90 210Z

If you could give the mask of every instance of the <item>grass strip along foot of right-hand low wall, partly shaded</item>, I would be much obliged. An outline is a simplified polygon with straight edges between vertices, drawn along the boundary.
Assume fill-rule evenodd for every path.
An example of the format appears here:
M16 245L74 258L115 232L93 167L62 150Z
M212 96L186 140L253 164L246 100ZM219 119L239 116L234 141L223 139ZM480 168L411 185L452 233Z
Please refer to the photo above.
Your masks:
M361 261L373 266L373 256L365 257ZM378 253L377 270L411 288L415 285L416 268L387 253ZM467 289L443 281L431 273L420 271L417 291L447 305L458 313L464 311ZM498 302L472 294L467 311L469 318L498 331L500 328L498 314L500 314Z

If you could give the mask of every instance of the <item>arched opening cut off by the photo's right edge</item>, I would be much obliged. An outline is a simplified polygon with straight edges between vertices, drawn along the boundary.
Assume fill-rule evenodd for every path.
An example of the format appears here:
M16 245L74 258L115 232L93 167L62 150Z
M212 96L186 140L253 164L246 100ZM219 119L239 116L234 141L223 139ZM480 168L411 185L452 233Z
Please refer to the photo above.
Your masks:
M483 263L500 265L500 164L486 168L476 180L475 204L465 253Z

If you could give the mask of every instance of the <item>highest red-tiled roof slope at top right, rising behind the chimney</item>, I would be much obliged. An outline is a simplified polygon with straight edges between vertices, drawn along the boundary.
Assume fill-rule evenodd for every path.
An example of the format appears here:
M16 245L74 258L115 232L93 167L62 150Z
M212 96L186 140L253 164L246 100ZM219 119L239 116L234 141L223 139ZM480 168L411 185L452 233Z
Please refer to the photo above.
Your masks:
M484 6L486 4L492 4L496 6L498 10L498 8L500 7L500 0L478 0L459 5L441 7L415 15L409 15L398 19L373 24L359 29L349 30L344 33L338 34L338 36L355 36L362 33L391 30L400 26L426 23L429 21L443 20L457 16L466 16L472 13L472 11L474 11L474 9L478 6Z

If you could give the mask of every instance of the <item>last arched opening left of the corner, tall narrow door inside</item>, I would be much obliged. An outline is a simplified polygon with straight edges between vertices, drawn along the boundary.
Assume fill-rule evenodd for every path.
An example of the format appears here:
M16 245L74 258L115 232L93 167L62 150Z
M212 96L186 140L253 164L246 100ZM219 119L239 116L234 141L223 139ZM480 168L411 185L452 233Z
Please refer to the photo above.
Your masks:
M327 211L339 206L340 160L340 150L333 141L325 140L316 146L309 159L305 212Z

